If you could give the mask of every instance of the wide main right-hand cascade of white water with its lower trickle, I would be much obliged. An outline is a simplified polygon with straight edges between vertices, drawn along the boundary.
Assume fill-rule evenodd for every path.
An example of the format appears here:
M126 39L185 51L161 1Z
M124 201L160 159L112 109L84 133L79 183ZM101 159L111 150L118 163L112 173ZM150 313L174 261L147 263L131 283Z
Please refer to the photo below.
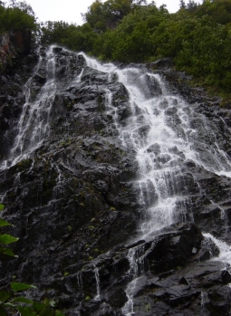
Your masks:
M92 68L108 72L109 78L111 73L116 73L118 81L129 92L131 115L126 124L118 122L117 109L113 108L113 94L110 90L107 91L107 110L113 114L121 143L137 153L140 206L146 209L146 214L142 215L140 238L145 238L175 221L184 222L188 203L190 204L182 173L182 164L185 161L192 161L196 166L218 176L231 177L231 163L225 151L217 144L215 127L209 126L204 115L196 115L181 98L172 96L159 75L136 68L120 70L113 64L101 65L86 55L84 57ZM196 178L194 181L197 183ZM220 243L212 236L211 238L221 249L219 259L225 258L230 263L227 244ZM136 248L130 249L128 253L128 277L131 281L126 289L128 301L121 310L126 316L134 315L133 292L139 278L139 258L136 253ZM203 296L201 304L203 306Z

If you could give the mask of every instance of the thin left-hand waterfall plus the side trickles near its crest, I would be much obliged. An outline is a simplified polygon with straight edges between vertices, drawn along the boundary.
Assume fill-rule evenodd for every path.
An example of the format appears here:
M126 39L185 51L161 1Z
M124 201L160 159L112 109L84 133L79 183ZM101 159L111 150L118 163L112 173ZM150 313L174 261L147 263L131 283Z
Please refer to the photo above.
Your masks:
M53 108L54 98L60 87L63 89L63 87L69 86L71 83L81 81L82 72L79 74L76 71L71 73L70 58L66 59L66 64L64 65L65 73L68 77L67 80L66 77L62 78L60 73L56 73L60 63L62 62L57 60L53 46L47 50L45 56L43 53L40 54L33 76L24 85L25 102L16 127L16 138L9 157L0 166L1 169L7 168L7 166L14 166L23 159L33 157L34 151L40 148L43 140L50 135L50 113ZM43 82L44 84L41 88L35 88L34 90L34 81L37 80L45 82ZM36 90L38 90L37 93Z

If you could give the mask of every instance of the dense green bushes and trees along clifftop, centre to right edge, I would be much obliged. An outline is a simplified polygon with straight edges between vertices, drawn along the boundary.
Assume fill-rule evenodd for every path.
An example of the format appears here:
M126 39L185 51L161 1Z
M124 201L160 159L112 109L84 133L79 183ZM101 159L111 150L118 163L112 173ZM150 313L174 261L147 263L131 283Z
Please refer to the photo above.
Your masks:
M84 51L102 61L154 62L171 57L196 83L229 96L231 0L180 1L176 14L154 2L96 0L80 25L47 22L42 42Z

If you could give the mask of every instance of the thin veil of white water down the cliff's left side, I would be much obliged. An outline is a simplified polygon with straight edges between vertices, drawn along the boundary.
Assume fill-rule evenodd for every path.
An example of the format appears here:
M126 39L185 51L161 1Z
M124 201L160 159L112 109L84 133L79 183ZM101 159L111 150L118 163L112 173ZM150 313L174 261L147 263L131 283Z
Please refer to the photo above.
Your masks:
M42 61L43 57L40 57L35 73L39 70ZM35 100L33 100L34 98L31 94L33 77L25 85L25 103L18 123L14 146L8 158L10 165L27 158L30 153L41 146L43 139L49 135L49 114L56 92L54 63L53 49L51 47L47 52L47 81Z

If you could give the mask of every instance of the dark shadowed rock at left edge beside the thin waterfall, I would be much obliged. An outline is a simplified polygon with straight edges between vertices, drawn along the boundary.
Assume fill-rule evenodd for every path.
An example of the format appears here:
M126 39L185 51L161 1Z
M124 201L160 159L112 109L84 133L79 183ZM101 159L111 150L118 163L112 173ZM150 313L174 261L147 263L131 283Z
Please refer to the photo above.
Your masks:
M31 32L8 32L0 36L0 159L13 146L15 129L24 105L24 83L38 55L32 49Z

